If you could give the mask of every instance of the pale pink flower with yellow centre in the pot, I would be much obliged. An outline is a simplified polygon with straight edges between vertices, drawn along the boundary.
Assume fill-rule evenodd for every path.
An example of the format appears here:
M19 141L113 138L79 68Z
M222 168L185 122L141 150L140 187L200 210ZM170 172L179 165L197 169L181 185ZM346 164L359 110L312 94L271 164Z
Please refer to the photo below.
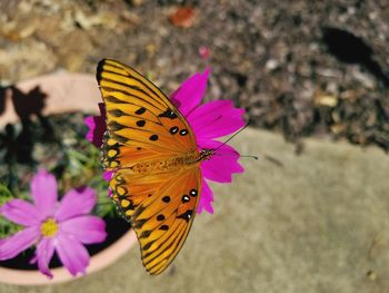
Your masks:
M49 263L57 252L62 264L72 275L86 273L89 254L83 244L106 240L106 223L88 215L96 204L94 191L71 189L59 203L54 176L40 170L31 182L31 197L34 205L11 199L0 207L0 214L24 229L6 240L0 240L0 260L9 260L32 245L37 245L32 263L38 261L39 270L52 277Z

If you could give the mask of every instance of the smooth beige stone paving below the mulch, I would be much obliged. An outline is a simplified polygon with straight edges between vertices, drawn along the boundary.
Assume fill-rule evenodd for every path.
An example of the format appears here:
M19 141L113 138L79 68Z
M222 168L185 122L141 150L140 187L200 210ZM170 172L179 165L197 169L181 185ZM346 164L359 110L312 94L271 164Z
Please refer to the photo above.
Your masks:
M310 139L297 156L279 135L253 129L235 145L260 159L242 158L245 174L212 185L215 214L197 216L164 274L147 275L134 247L70 283L0 292L389 292L387 155Z

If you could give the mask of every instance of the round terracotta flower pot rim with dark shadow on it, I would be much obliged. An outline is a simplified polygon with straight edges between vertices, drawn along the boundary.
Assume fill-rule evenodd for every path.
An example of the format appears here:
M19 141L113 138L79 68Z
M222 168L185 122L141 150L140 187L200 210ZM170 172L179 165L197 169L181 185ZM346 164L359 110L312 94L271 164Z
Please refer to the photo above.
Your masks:
M96 79L91 75L53 74L22 81L18 85L0 90L0 128L7 124L30 119L33 116L63 113L98 114L98 102L101 101ZM121 219L120 219L121 221ZM114 228L114 223L112 224ZM123 255L136 242L132 229L107 247L91 255L87 274L96 272L113 263ZM87 246L88 247L88 246ZM53 279L37 271L9 268L0 264L0 282L19 285L52 284L73 280L64 267L52 268ZM79 274L77 277L82 276Z

